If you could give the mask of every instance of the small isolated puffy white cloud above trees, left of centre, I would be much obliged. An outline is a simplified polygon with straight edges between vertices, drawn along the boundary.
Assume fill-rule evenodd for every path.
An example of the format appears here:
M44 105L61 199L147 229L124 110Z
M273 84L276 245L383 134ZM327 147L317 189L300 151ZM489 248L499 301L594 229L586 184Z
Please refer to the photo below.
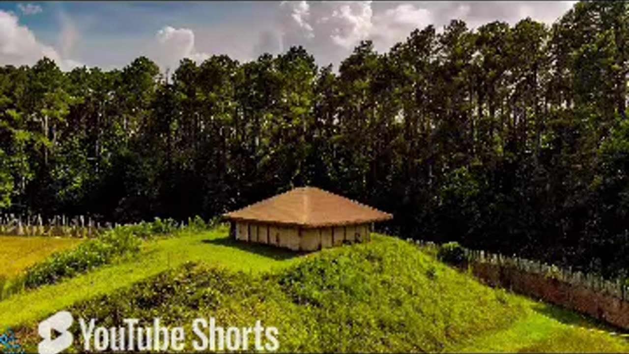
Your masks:
M179 66L179 61L189 58L203 62L209 55L198 52L194 45L194 32L189 28L165 26L157 31L155 40L150 43L148 56L155 60L162 71L171 72Z

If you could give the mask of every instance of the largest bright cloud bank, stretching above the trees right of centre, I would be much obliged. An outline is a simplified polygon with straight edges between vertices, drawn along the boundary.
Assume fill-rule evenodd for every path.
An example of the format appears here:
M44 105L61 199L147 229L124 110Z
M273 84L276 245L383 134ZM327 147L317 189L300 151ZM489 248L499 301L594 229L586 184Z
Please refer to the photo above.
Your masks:
M383 52L415 28L435 25L441 30L454 19L466 21L470 28L496 20L514 24L526 16L552 23L575 2L282 1L276 27L260 35L256 49L266 50L268 45L263 42L273 42L269 33L277 31L282 50L303 45L320 64L338 64L360 40L373 40L376 50Z

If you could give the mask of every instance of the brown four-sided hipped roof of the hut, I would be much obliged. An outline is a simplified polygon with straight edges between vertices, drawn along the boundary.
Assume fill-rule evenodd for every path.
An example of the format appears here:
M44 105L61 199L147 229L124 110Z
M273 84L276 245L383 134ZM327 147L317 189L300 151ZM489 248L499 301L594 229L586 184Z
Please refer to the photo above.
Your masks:
M301 227L342 226L392 219L392 215L315 187L301 187L223 214L230 220Z

